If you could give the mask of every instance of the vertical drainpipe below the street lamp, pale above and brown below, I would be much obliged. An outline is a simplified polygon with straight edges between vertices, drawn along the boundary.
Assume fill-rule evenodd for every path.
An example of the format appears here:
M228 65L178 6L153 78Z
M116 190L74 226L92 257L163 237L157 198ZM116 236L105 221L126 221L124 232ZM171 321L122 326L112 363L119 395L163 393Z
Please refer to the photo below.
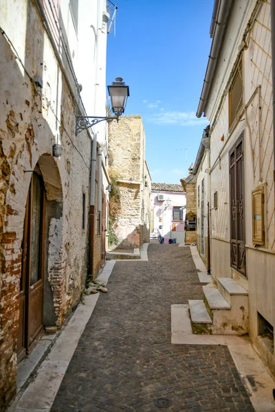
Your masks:
M93 262L94 262L97 137L98 137L97 133L94 133L93 145L91 148L90 207L89 207L89 275L90 276L93 276Z

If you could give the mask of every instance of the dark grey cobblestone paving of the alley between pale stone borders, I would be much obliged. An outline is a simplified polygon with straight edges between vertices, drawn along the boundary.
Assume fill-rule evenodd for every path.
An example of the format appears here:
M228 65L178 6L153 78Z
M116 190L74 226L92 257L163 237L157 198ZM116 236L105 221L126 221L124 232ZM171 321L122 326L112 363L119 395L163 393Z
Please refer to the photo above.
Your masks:
M170 305L202 298L190 249L148 258L115 264L51 411L254 411L228 347L170 343Z

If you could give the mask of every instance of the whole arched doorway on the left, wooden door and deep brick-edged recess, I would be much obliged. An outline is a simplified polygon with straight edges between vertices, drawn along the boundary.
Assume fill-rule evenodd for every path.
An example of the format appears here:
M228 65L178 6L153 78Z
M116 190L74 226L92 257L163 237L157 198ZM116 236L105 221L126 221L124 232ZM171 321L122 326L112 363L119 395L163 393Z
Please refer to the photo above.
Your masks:
M25 207L17 361L31 352L43 326L61 323L63 191L54 158L44 154L32 172Z

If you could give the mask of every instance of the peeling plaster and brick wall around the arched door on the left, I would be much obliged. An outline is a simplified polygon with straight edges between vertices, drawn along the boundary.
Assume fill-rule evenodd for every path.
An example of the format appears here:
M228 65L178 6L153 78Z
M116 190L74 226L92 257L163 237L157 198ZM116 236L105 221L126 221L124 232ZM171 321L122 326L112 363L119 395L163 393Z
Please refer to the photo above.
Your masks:
M19 15L20 19L14 18ZM38 163L46 190L45 289L58 327L78 303L87 273L91 141L75 136L76 107L32 1L1 4L0 34L0 409L16 391L21 244L32 170ZM17 55L14 52L17 52ZM21 62L19 61L19 57ZM43 78L43 87L34 84ZM63 146L61 158L52 145ZM88 206L88 204L87 204ZM87 207L85 208L87 222Z

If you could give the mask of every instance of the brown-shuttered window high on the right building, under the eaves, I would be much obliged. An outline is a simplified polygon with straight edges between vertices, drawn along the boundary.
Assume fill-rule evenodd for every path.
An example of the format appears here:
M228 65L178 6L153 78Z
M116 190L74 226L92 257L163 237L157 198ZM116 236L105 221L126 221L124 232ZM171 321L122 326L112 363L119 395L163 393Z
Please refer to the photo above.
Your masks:
M232 78L232 84L229 89L229 127L236 119L239 111L243 107L243 76L242 76L242 64L239 61L234 76Z

